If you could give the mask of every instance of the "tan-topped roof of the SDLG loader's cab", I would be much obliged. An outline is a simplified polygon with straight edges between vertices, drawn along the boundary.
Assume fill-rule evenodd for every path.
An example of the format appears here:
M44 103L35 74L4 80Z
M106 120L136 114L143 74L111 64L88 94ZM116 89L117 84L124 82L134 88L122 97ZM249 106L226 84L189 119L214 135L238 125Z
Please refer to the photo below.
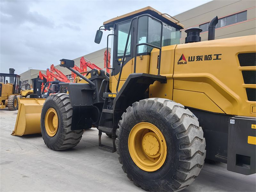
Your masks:
M136 16L141 15L141 14L145 14L145 13L148 13L148 14L156 17L157 19L162 20L164 23L166 23L168 25L171 25L171 26L173 26L177 29L183 29L184 28L184 26L182 24L180 24L180 22L178 20L176 20L175 18L171 18L171 17L167 16L166 13L161 13L161 12L157 11L156 9L150 7L150 6L144 7L142 9L139 9L139 10L136 10L136 11L133 11L133 12L130 12L130 13L126 13L126 14L121 15L121 16L117 16L117 17L115 17L113 19L110 19L110 20L107 20L103 23L103 25L111 25L111 24L114 24L116 22L132 19L133 17L136 17Z

